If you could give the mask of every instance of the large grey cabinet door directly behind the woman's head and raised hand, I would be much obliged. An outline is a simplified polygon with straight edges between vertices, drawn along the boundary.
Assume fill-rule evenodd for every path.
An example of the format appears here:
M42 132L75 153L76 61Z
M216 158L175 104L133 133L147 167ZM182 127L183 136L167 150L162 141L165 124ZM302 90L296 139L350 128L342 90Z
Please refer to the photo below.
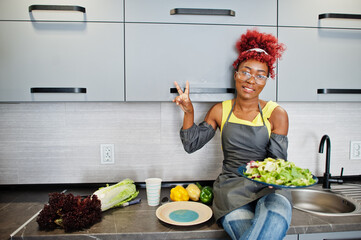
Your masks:
M236 41L247 27L182 24L125 24L126 101L171 101L174 81L190 82L193 101L234 97L215 93L234 86ZM275 34L276 28L260 28ZM275 80L262 98L275 100Z

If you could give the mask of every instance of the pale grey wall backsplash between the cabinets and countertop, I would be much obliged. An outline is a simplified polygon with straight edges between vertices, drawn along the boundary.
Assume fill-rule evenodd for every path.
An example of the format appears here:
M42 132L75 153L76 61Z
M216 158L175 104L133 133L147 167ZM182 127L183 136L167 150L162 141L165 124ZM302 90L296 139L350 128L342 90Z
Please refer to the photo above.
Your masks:
M195 122L212 103L195 103ZM360 103L280 103L289 115L288 159L323 175L323 134L331 138L331 173L359 175L350 141L361 141ZM179 139L183 113L173 103L0 104L0 184L99 183L147 177L214 180L223 154L219 131L187 154ZM115 145L115 164L100 164L100 144Z

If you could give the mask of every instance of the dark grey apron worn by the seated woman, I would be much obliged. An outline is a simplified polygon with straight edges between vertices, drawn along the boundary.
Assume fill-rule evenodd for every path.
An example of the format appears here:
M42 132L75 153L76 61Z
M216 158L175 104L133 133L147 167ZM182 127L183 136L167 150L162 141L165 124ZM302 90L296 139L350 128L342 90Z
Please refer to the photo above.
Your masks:
M269 134L260 104L258 104L258 108L263 126L248 126L229 122L235 102L222 130L224 154L222 173L213 185L212 208L216 220L234 209L275 192L274 189L249 181L238 174L237 169L241 165L246 165L251 160L262 161L267 157Z

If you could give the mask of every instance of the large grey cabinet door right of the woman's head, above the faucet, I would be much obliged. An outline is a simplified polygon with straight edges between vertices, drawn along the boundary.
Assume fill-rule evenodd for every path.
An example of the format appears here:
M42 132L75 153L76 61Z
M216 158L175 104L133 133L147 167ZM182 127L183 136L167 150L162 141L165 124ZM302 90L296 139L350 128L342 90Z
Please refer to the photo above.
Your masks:
M361 31L279 28L279 101L361 101Z

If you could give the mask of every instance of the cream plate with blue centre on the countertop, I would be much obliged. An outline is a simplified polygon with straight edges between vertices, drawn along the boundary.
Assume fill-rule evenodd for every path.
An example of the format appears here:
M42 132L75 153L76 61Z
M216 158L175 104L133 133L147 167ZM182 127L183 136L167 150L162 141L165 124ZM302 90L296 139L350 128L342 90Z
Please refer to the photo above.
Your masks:
M157 218L165 223L177 226L192 226L208 221L212 217L212 209L203 203L179 201L160 206Z

